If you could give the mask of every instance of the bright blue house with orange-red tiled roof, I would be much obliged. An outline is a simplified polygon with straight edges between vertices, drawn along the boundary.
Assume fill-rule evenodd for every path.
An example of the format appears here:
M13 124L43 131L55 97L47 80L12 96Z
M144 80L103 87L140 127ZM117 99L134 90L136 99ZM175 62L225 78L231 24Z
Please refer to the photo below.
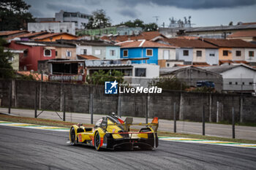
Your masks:
M129 58L132 63L154 63L158 65L159 48L172 48L170 45L143 40L119 42L120 58Z

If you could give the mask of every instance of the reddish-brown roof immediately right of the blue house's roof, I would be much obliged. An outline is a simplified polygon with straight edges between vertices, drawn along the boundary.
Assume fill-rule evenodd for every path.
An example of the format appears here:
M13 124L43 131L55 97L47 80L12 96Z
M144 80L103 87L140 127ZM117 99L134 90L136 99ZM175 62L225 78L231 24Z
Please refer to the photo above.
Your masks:
M217 48L215 45L203 42L200 39L162 39L164 42L168 42L170 45L177 47L193 47L193 48Z

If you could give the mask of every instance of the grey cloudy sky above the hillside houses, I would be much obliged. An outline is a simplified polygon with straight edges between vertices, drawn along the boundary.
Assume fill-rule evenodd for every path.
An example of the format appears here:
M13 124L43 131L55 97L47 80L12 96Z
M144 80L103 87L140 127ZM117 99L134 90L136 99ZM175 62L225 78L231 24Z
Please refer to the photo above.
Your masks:
M256 0L25 0L34 17L54 17L61 9L91 14L104 9L113 24L139 18L158 25L169 18L183 20L192 16L194 26L220 26L241 22L256 22Z

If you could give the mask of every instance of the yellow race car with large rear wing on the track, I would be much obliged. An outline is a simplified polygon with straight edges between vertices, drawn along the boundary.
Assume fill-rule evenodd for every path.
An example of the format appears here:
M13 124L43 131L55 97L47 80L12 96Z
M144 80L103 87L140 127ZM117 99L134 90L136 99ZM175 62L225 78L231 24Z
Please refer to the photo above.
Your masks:
M133 126L140 129L135 130L131 128ZM86 144L95 147L96 150L102 148L132 150L135 147L152 150L154 147L158 147L157 128L157 117L154 117L151 123L132 124L131 117L121 120L113 113L98 120L94 128L86 128L81 124L72 125L69 131L69 140L73 145Z

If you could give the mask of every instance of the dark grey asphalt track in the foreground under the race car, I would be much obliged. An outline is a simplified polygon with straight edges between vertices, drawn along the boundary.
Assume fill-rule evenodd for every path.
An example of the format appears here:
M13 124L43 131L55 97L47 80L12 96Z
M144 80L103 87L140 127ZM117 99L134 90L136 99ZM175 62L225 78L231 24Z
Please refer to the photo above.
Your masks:
M67 144L68 133L0 126L0 169L256 169L256 150L159 141L155 150Z

